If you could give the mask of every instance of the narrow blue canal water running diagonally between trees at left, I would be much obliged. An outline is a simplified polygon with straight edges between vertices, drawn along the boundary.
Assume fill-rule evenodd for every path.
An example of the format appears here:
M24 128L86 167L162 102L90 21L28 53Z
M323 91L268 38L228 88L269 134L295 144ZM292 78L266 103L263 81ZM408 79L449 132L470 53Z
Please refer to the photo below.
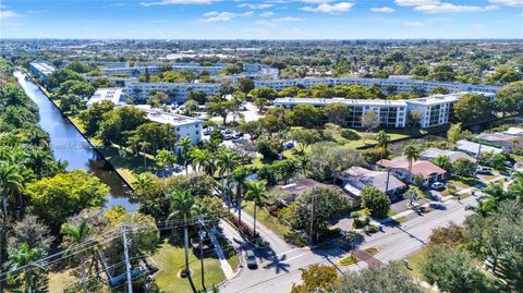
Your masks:
M106 208L123 206L127 211L136 210L138 205L127 198L130 190L122 179L114 171L104 167L105 162L98 158L89 143L69 120L62 117L60 110L48 99L46 94L33 82L26 80L25 73L15 71L14 76L19 80L25 94L38 105L39 125L49 133L54 158L68 161L68 170L90 171L107 184L110 193L107 195Z

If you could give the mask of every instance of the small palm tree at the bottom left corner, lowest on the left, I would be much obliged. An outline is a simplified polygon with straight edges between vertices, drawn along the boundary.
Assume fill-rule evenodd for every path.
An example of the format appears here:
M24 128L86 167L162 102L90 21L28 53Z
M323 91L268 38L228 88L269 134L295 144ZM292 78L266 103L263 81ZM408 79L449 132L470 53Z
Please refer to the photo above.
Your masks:
M25 290L27 292L33 292L33 277L32 271L36 268L42 268L38 264L33 263L38 256L36 249L29 248L27 243L22 244L19 249L16 249L13 254L10 255L11 260L11 272L16 272L23 268L24 271L24 282L25 282Z

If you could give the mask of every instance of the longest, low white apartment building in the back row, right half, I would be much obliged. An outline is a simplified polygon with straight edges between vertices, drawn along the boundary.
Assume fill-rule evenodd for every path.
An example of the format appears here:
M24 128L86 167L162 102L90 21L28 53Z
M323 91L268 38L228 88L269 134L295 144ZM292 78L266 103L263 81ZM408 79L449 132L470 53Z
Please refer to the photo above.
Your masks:
M398 91L423 91L427 94L434 87L445 87L450 91L475 91L482 94L496 94L499 89L498 86L488 86L488 85L471 85L463 83L446 83L446 82L425 82L408 78L360 78L360 77L340 77L340 78L330 78L330 77L313 77L313 78L290 78L290 80L266 80L266 81L255 81L255 87L271 87L277 90L281 90L289 86L303 86L303 87L313 87L314 85L327 85L327 86L337 86L342 84L349 85L363 85L372 86L376 85L384 93L390 94L389 89L394 89Z

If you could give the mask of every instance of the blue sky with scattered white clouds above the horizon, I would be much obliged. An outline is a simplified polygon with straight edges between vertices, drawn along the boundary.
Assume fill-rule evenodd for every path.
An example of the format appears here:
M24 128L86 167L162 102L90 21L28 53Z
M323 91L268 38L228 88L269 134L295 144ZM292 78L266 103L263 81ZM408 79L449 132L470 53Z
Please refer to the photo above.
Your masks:
M1 38L523 38L523 0L1 0Z

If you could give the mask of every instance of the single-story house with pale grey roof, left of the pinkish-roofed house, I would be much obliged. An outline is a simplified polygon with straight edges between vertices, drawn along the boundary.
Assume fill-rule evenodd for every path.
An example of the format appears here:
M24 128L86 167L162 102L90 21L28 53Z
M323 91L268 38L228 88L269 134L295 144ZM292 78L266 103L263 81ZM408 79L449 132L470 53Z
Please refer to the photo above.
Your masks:
M387 187L387 176L389 185ZM360 197L365 186L374 186L388 195L397 194L406 185L398 180L393 174L381 171L368 170L361 167L351 167L338 175L343 181L343 190L355 197Z

